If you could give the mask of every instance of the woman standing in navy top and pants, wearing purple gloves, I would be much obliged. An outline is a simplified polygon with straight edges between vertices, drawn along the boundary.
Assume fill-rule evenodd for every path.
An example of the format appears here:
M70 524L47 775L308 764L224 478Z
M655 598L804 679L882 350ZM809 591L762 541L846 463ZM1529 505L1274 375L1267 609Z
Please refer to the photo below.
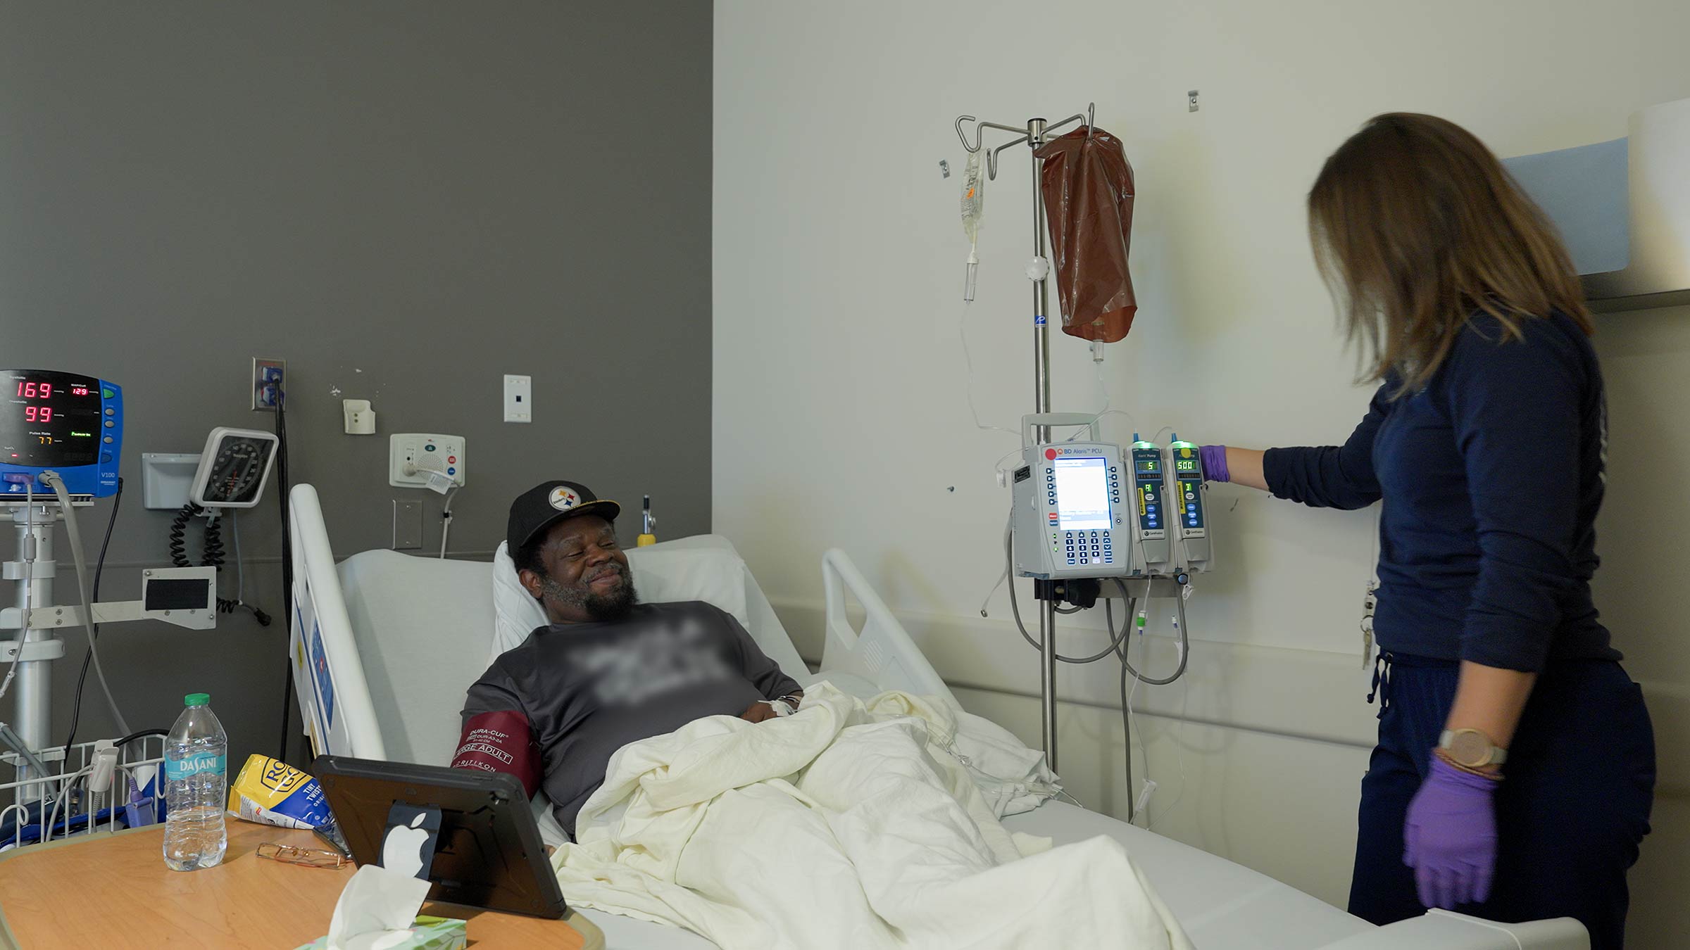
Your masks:
M1379 390L1344 445L1202 456L1281 499L1384 502L1350 913L1572 916L1619 950L1655 739L1590 598L1607 409L1578 277L1484 144L1428 115L1350 137L1308 216Z

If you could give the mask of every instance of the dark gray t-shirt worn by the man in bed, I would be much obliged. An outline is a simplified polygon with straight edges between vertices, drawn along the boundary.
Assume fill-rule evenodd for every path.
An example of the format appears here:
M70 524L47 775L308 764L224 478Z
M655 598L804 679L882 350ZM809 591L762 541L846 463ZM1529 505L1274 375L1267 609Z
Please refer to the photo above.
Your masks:
M725 610L641 603L620 620L536 629L470 686L463 722L468 734L483 713L527 718L541 788L573 838L576 813L622 745L793 693L798 683Z

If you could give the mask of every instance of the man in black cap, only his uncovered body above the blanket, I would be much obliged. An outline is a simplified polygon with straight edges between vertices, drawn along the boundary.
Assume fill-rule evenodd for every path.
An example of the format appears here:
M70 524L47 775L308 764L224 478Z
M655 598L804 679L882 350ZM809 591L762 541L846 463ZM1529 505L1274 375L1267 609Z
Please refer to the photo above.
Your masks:
M571 837L610 754L710 715L760 722L801 690L739 620L703 602L639 603L615 502L548 482L510 505L507 543L551 625L470 686L453 767L544 788Z

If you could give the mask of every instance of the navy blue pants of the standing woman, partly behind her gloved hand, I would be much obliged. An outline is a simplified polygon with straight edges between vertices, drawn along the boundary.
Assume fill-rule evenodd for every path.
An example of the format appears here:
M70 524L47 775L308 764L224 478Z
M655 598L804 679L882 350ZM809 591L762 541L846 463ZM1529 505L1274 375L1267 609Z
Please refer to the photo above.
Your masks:
M1377 925L1420 916L1403 864L1403 818L1428 771L1458 664L1386 654L1379 745L1362 779L1350 913ZM1458 913L1519 923L1570 916L1592 950L1626 940L1626 869L1649 832L1655 732L1643 691L1617 663L1551 661L1538 676L1496 791L1491 899Z

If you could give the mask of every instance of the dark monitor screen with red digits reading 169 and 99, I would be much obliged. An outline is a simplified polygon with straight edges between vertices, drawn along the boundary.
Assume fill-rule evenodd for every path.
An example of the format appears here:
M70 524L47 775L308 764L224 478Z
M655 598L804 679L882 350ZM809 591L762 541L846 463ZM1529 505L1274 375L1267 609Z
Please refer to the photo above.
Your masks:
M100 460L100 380L63 372L0 372L0 461L24 467Z

